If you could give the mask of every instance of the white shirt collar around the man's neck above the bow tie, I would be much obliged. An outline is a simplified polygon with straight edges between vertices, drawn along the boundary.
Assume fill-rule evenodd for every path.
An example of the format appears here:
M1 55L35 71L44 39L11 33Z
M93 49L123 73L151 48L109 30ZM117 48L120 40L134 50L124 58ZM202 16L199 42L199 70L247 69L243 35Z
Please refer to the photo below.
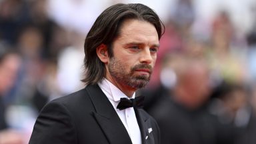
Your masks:
M111 99L112 101L120 101L121 98L128 98L125 93L123 93L119 88L117 88L113 83L108 81L107 79L103 79L100 83L98 83L99 87L107 92L107 97ZM133 93L133 96L131 98L135 98L135 93Z

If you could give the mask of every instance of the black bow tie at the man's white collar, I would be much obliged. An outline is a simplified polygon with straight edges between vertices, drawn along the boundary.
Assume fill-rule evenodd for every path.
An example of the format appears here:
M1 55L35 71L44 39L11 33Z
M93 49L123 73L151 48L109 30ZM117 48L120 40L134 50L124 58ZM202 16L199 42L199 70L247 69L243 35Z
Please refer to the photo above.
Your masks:
M144 101L143 96L135 97L135 99L121 98L120 102L117 105L117 109L123 110L129 107L142 108L143 101Z

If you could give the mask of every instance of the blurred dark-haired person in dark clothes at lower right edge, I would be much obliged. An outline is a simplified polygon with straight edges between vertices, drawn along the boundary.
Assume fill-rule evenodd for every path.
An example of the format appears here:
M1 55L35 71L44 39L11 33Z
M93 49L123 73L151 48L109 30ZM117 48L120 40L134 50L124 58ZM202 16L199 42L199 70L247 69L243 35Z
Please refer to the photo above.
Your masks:
M255 143L254 92L246 85L223 82L212 93L209 107L219 123L219 139L225 143Z

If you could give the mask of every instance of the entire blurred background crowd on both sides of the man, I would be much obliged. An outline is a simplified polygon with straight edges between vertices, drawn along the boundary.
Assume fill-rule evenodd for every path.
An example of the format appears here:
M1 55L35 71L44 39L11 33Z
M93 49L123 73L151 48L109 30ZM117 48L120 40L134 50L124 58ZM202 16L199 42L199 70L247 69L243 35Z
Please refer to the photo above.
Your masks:
M0 0L0 144L27 143L47 101L84 87L86 33L117 2L127 1ZM137 93L162 142L256 143L256 3L243 33L228 9L195 23L193 0L174 7L151 82Z

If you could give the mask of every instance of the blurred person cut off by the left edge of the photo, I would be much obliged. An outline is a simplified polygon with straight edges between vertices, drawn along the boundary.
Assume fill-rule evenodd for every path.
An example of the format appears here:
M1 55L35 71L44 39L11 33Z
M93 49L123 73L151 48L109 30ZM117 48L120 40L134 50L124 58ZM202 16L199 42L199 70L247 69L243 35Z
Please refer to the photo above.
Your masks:
M7 123L5 113L5 96L14 86L21 57L7 47L5 43L0 43L0 143L1 144L23 144L25 143L23 133L11 129Z

